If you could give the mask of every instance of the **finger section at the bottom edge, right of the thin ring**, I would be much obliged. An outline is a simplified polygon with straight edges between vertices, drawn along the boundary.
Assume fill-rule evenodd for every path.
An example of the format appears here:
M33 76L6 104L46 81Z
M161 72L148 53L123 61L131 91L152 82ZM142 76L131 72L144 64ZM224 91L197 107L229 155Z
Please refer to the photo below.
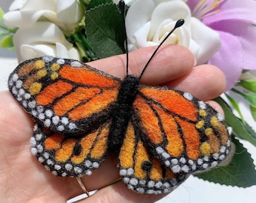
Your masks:
M100 189L96 194L81 202L140 202L151 203L163 198L164 195L142 195L127 189L124 183L116 183Z

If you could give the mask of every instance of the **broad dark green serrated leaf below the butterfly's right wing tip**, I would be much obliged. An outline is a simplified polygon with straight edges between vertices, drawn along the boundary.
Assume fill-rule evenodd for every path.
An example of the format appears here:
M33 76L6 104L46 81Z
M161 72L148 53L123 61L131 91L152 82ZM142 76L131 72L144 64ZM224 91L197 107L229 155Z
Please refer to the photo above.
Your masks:
M237 139L233 138L232 141L236 146L236 152L229 165L220 166L195 176L227 186L248 187L256 185L256 170L251 155Z

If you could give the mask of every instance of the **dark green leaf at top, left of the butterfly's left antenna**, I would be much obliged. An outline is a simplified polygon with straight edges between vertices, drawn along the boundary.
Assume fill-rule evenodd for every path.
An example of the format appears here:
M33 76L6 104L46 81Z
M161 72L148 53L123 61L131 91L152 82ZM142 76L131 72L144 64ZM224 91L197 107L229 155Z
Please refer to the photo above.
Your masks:
M116 5L101 5L85 12L87 41L99 59L124 53L124 31Z

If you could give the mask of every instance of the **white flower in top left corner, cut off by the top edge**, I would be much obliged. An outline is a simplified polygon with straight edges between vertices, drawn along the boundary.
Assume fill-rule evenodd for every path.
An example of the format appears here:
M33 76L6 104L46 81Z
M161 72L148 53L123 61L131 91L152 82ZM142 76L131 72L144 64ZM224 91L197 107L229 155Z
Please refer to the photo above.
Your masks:
M4 21L11 28L26 28L44 20L67 32L72 32L84 15L77 0L16 0L10 10Z

